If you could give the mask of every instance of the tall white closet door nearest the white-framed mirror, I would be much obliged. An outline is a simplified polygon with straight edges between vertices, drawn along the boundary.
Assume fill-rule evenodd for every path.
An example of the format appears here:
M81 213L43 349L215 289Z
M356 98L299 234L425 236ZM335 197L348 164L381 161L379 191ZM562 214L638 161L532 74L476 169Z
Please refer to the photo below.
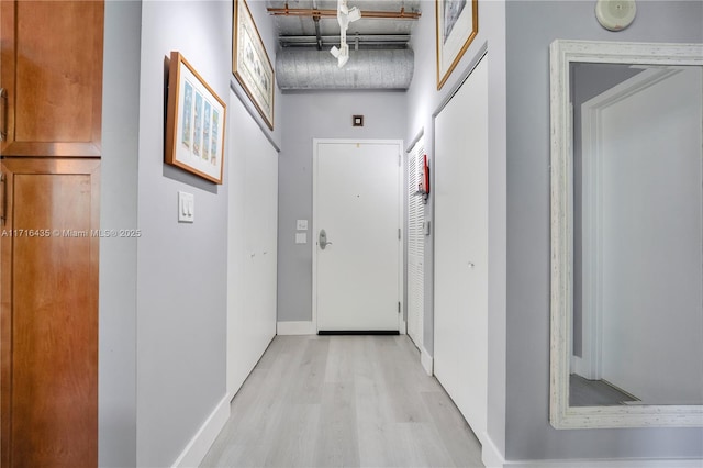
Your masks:
M435 121L437 379L480 441L488 397L488 57Z

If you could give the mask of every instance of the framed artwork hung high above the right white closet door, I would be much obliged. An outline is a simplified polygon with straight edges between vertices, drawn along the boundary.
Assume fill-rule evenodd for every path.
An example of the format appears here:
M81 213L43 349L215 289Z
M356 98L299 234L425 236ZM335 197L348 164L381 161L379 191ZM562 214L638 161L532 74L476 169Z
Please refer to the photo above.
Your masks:
M435 19L439 90L479 32L478 0L437 0Z

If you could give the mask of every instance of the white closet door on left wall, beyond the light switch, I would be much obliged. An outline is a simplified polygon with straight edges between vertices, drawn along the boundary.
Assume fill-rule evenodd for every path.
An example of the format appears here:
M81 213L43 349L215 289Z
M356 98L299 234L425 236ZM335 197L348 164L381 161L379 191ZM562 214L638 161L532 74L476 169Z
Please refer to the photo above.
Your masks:
M234 93L227 109L227 392L276 335L278 152Z

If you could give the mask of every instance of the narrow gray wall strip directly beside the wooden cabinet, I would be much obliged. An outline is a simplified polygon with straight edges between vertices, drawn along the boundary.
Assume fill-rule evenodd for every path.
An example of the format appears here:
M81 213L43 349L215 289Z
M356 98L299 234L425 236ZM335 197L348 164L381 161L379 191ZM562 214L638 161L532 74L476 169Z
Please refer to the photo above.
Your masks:
M137 225L141 1L105 2L100 227ZM136 244L100 239L99 465L136 465Z

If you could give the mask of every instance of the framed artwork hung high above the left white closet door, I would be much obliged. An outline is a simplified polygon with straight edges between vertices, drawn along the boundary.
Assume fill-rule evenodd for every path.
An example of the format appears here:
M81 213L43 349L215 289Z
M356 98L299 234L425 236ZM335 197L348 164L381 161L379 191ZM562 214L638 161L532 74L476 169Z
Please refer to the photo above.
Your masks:
M234 0L232 73L274 130L274 67L245 0Z

